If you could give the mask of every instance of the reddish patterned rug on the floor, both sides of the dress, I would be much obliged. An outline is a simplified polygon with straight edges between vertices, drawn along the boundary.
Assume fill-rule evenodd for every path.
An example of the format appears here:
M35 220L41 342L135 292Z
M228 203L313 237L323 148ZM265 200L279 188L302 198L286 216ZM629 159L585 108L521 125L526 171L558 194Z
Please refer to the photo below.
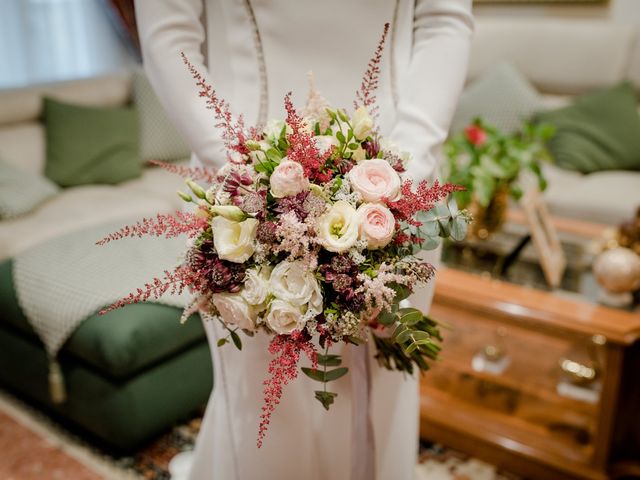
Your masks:
M114 457L0 391L0 479L169 480L169 462L193 448L200 422L197 416L132 456ZM522 479L463 453L423 442L415 480Z

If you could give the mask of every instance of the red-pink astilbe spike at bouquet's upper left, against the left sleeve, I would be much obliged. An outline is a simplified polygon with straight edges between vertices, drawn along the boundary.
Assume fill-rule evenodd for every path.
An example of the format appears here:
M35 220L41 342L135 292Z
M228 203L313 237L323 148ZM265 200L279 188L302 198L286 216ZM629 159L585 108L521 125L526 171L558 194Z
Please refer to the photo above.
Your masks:
M229 103L218 97L218 94L213 87L207 83L202 74L198 72L184 52L181 52L180 55L182 56L182 61L189 69L189 73L191 73L194 80L197 82L196 84L200 89L200 97L207 99L207 108L213 110L214 116L218 120L218 123L215 126L222 131L222 140L224 141L227 149L243 155L249 153L246 141L251 138L252 133L245 130L242 115L238 116L237 120L234 120L233 114L229 108Z

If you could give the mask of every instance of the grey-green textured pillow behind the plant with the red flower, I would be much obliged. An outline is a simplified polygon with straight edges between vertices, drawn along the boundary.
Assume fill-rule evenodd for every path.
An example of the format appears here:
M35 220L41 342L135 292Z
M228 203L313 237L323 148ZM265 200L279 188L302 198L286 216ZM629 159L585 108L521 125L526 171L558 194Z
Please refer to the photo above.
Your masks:
M504 132L515 132L523 120L542 108L541 96L525 76L511 64L501 63L471 82L462 93L451 134L460 132L476 117Z

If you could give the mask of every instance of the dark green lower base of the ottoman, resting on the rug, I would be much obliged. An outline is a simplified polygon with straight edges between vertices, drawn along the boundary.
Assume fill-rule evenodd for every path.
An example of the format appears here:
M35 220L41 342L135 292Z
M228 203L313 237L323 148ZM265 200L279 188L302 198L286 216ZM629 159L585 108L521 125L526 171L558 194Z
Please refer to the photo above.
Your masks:
M125 381L105 378L66 354L60 365L67 401L54 405L42 347L0 325L0 385L120 451L139 448L198 411L213 383L204 341Z

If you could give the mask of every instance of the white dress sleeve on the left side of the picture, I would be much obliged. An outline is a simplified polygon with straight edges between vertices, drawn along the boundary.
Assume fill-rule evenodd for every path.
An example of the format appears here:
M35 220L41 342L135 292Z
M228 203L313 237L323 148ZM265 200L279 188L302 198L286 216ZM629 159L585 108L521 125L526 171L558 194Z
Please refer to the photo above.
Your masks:
M144 69L151 85L200 162L220 167L222 139L180 56L184 52L205 78L209 76L201 50L203 8L203 0L135 1Z

